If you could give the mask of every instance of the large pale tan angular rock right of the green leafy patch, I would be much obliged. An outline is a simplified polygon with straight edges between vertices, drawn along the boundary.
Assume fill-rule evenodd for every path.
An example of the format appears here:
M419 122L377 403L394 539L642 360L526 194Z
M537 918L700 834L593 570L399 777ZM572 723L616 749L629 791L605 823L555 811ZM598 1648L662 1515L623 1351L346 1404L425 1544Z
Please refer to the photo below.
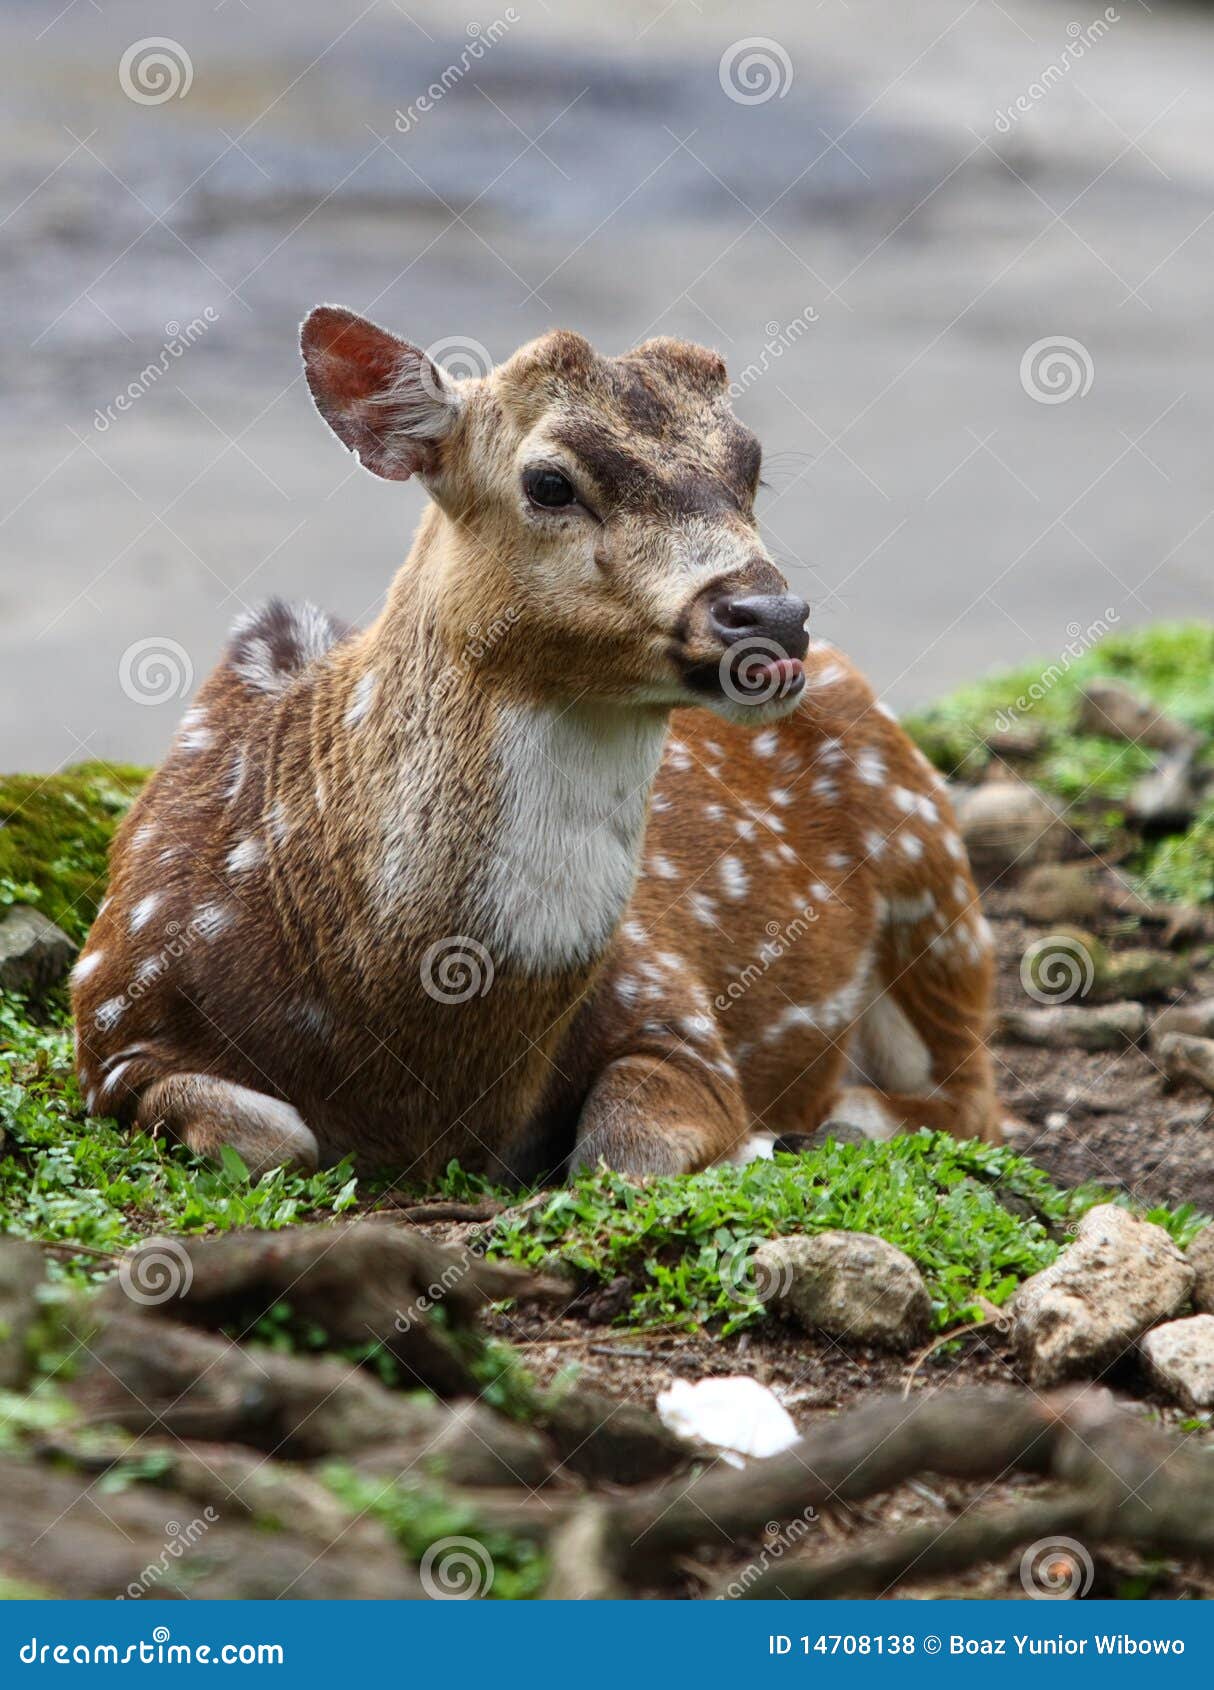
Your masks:
M1189 1298L1194 1269L1163 1227L1101 1203L1075 1242L1011 1301L1011 1338L1030 1382L1092 1377Z

